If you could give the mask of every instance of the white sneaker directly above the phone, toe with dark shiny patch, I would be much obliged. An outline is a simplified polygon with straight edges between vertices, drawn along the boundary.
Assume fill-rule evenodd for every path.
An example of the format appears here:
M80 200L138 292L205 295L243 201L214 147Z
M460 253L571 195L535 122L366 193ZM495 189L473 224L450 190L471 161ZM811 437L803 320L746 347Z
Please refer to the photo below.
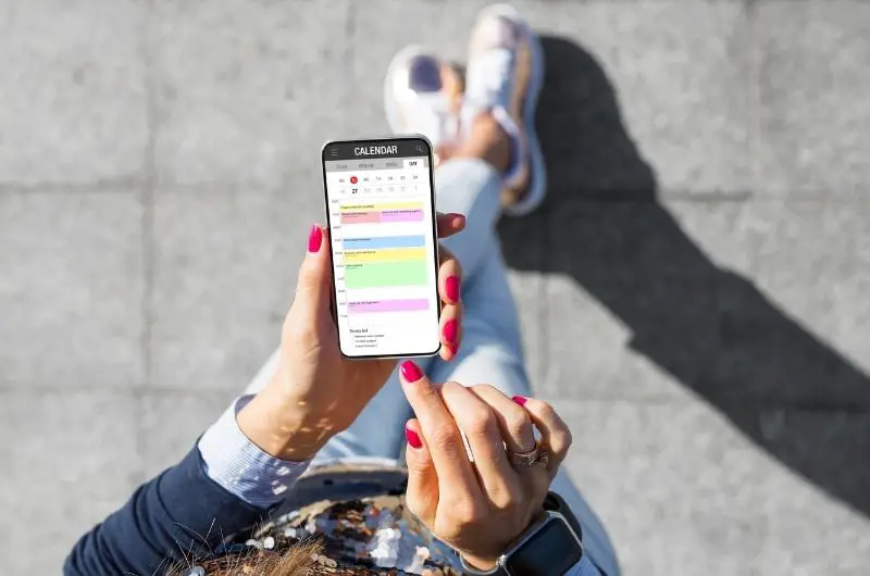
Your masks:
M422 134L437 150L459 140L462 78L450 64L411 46L393 59L384 108L395 134Z

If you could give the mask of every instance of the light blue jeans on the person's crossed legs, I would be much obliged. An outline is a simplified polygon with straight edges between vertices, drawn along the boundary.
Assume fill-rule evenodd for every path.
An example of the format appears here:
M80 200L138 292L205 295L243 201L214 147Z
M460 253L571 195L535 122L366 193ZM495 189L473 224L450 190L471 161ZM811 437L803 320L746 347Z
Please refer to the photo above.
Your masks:
M465 229L444 240L462 266L463 337L458 358L420 362L433 381L464 385L487 383L508 396L531 396L520 341L517 306L508 285L495 224L501 215L501 183L496 171L480 160L452 160L436 171L436 203L440 212L467 216ZM248 388L254 392L274 374L273 354ZM336 459L401 459L405 422L412 416L398 375L394 372L347 430L318 453L314 464ZM616 552L598 516L564 469L552 483L583 527L583 543L592 560L617 576Z

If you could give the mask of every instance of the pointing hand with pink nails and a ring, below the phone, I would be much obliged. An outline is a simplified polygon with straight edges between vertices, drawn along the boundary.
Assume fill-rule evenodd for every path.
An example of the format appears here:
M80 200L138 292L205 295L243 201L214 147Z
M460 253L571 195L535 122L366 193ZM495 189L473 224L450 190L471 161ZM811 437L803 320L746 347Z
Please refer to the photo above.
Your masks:
M571 446L568 426L546 402L508 398L489 385L432 384L413 362L401 365L415 418L408 438L407 504L432 533L478 569L490 569L542 511ZM533 425L550 453L547 468L514 467L507 450L535 448ZM471 462L460 434L474 458Z

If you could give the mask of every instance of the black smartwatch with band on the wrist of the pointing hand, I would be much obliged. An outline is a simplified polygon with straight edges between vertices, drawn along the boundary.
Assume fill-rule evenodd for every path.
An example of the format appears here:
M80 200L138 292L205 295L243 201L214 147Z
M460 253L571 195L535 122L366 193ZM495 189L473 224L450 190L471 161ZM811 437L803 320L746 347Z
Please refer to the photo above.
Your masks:
M577 528L575 529L574 526ZM544 512L498 556L496 566L480 571L462 560L472 576L557 576L566 574L583 558L582 535L564 501L550 492Z

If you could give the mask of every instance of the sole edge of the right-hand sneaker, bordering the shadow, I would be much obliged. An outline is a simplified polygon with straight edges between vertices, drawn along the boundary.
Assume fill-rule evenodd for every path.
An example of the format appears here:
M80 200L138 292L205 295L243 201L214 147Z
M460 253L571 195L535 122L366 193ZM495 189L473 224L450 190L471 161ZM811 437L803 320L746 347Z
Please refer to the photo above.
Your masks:
M520 13L510 4L495 4L484 9L480 18L489 16L502 16L520 25L525 34L529 47L532 52L532 77L529 84L525 105L523 108L523 128L525 132L526 146L531 162L532 181L522 199L515 204L505 208L505 213L509 216L524 216L534 211L544 201L547 193L547 166L544 164L544 152L540 150L540 141L535 132L535 110L540 89L544 87L544 49L540 40L531 26L520 16Z

